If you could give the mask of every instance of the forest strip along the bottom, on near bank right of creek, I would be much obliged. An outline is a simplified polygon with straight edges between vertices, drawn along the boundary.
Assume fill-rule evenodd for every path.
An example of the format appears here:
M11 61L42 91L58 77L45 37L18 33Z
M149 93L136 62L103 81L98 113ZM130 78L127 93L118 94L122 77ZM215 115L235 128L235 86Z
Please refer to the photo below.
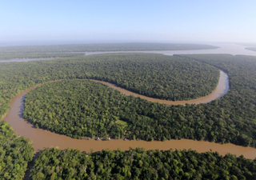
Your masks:
M195 150L45 149L31 171L32 179L255 179L256 160Z

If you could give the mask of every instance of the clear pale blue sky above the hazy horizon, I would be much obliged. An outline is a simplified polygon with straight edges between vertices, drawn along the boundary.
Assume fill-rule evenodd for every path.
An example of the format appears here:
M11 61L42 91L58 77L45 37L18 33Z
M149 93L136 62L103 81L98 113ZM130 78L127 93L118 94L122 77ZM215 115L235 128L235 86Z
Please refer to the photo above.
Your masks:
M0 43L256 42L253 0L0 0Z

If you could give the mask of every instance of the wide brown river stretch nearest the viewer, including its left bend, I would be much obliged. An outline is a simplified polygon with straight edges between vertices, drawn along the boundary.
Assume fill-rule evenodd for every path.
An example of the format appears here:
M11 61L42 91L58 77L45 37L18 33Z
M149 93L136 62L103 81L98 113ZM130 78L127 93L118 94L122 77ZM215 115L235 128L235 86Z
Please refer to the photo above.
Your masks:
M29 89L30 90L30 89ZM65 135L55 134L47 130L36 129L29 122L26 122L22 118L23 110L23 100L26 93L29 90L25 90L18 94L11 102L11 109L6 114L5 120L10 123L14 128L14 131L22 135L25 138L30 138L33 141L35 152L43 150L44 147L58 146L60 149L73 148L82 151L94 151L102 149L116 150L121 148L122 150L129 150L129 147L143 147L146 150L159 149L159 150L169 150L172 149L192 149L197 150L199 153L206 152L209 150L218 151L219 154L243 154L245 158L255 158L256 150L250 147L235 146L233 144L219 144L214 142L202 142L194 140L171 140L166 142L146 142L146 141L136 141L136 140L110 140L110 141L94 141L94 140L81 140L67 137Z

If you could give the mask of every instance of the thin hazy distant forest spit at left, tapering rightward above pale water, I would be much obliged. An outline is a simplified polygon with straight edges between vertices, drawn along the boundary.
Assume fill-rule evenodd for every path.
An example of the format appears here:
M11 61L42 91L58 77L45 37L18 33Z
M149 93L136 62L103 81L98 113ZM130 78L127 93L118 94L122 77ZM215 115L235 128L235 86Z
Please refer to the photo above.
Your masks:
M0 61L15 58L73 58L84 54L51 54L51 53L1 53Z

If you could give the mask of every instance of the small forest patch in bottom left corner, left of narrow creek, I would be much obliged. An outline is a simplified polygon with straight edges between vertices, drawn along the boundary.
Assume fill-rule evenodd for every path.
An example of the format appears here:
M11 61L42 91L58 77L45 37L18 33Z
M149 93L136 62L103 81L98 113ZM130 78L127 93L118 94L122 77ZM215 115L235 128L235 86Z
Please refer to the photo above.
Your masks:
M34 148L18 137L7 122L0 122L0 179L22 179Z

